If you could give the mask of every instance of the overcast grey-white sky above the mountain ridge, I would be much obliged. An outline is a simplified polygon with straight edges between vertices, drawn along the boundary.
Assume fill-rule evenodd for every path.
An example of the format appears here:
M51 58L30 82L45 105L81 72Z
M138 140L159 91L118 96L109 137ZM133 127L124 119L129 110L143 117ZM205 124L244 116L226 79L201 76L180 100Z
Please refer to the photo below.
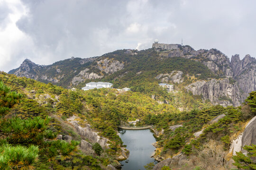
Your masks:
M181 43L256 57L255 0L0 0L0 70Z

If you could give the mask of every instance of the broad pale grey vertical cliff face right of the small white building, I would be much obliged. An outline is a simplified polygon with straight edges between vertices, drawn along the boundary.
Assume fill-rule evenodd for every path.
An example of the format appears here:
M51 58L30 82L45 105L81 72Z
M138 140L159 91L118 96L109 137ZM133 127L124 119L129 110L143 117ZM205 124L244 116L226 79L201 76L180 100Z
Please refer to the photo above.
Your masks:
M220 104L224 107L239 106L243 101L238 84L229 82L229 78L211 79L210 81L197 81L185 87L193 95L202 95L203 99L209 99L212 104Z

